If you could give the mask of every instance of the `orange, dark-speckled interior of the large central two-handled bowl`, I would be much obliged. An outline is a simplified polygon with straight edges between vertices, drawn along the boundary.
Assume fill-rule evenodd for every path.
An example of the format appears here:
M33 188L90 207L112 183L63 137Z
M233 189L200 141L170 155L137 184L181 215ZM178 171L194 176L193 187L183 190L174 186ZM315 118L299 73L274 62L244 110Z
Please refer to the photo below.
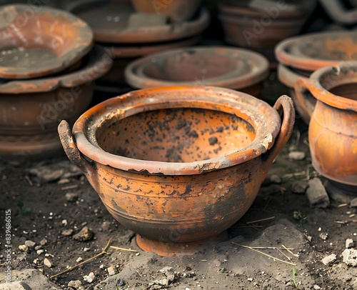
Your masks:
M159 109L104 122L96 131L111 154L163 162L213 159L244 149L256 138L247 121L209 109Z

